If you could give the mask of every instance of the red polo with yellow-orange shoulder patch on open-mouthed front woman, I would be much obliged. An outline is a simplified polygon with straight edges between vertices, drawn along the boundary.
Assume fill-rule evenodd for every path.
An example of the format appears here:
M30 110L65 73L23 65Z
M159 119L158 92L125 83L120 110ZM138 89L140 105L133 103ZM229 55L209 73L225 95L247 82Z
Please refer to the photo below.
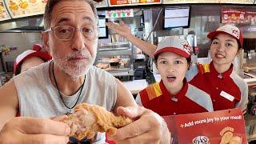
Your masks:
M140 91L136 101L161 116L213 111L210 95L188 84L186 79L176 95L171 95L161 81Z

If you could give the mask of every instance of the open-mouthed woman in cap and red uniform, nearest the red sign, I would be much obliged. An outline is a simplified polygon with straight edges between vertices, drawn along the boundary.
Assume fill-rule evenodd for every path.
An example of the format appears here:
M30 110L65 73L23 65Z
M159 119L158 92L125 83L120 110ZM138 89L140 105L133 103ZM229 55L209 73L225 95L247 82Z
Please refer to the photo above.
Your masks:
M213 111L210 95L186 82L190 52L178 36L159 42L154 59L162 80L140 91L136 102L162 116Z

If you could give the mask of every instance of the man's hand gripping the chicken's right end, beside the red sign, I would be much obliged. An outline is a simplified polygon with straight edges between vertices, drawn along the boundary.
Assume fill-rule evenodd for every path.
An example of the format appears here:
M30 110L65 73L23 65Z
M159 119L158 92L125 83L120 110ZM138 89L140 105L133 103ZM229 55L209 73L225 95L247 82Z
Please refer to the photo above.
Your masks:
M117 130L114 137L117 143L165 143L170 144L170 132L166 122L152 110L141 106L118 107L118 114L126 115L135 121Z

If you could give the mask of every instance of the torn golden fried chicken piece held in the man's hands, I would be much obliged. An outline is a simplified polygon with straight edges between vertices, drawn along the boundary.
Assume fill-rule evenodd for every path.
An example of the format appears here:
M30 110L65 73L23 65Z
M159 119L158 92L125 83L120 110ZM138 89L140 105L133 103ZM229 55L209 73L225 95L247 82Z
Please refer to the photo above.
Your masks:
M125 116L114 116L102 106L79 104L74 107L74 114L68 115L61 122L70 126L70 136L81 140L82 138L94 138L97 132L106 132L113 136L117 128L126 126L132 121Z

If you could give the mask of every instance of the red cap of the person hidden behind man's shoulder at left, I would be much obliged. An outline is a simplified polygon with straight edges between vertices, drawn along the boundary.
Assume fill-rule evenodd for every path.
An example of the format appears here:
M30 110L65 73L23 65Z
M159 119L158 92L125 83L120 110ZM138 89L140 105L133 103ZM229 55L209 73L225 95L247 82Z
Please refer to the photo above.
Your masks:
M47 62L51 59L50 54L44 51L35 51L35 50L26 50L22 54L19 54L14 62L14 74L17 75L18 67L21 66L22 62L24 62L28 58L38 57L42 58L43 61Z

